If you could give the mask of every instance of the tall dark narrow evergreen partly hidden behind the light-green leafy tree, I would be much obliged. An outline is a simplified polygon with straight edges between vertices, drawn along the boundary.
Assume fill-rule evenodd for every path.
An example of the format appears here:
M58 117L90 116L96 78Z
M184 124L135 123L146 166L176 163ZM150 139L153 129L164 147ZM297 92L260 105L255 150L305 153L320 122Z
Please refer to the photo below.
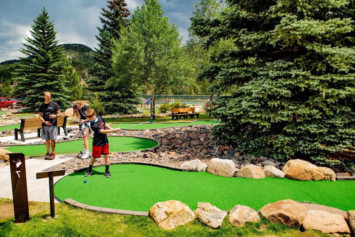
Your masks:
M125 8L127 4L124 0L112 0L108 2L108 9L102 8L99 17L102 28L98 27L99 34L96 35L98 43L97 53L94 55L95 64L89 71L91 77L86 82L91 92L96 92L104 103L106 112L113 113L135 113L137 112L133 104L137 103L138 95L134 87L127 85L108 84L108 80L114 75L112 70L112 52L113 40L120 38L121 27L129 25L130 11ZM93 93L89 95L93 97Z

